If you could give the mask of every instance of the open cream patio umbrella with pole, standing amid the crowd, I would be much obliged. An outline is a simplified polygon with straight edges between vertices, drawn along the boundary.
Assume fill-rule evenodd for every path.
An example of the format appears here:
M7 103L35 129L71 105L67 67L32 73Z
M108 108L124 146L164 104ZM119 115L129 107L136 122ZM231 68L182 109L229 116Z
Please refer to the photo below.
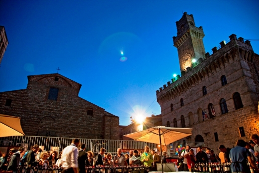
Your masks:
M192 135L191 132L192 132L192 129L190 128L173 128L173 127L157 126L157 127L152 127L140 132L135 132L124 136L136 141L160 144L161 165L162 165L162 172L164 172L163 163L162 163L162 145L167 145L174 141L190 136Z

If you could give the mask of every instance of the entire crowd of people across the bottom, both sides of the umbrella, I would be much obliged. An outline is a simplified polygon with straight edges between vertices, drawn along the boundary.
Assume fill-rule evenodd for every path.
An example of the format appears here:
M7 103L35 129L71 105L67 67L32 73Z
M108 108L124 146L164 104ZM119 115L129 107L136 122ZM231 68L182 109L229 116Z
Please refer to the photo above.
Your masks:
M96 152L97 147L93 148ZM114 157L111 153L106 153L104 147L99 148L98 153L85 150L86 145L80 144L78 139L74 139L59 156L56 151L42 151L38 145L34 145L32 150L27 152L24 147L19 147L17 152L10 149L8 154L0 153L0 168L1 172L16 173L18 167L31 165L43 169L62 168L62 173L86 173L86 167L143 165L149 167L150 171L157 171L156 166L161 163L159 154L154 149L150 150L148 146L144 147L144 151L130 150L129 153L123 153L122 149L118 148ZM194 150L186 146L178 155L178 171L190 172L195 164L231 163L232 173L250 173L251 168L259 173L256 164L259 159L258 135L252 135L249 142L238 140L233 149L220 145L219 150L220 153L217 155L210 148L206 148L204 152L200 147ZM163 152L162 163L166 163L166 156L166 152Z

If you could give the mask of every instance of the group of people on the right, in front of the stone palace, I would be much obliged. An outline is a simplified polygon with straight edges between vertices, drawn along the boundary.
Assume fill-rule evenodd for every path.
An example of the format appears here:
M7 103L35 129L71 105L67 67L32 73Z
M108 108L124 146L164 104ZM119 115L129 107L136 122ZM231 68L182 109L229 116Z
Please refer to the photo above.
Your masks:
M232 173L259 173L259 136L252 135L249 142L238 140L236 147L230 149L224 145L219 146L219 154L215 154L210 148L205 152L201 147L196 149L196 154L190 146L186 146L183 152L179 152L177 160L178 171L190 172L195 164L231 164ZM251 170L252 169L252 170ZM253 173L254 173L253 172Z

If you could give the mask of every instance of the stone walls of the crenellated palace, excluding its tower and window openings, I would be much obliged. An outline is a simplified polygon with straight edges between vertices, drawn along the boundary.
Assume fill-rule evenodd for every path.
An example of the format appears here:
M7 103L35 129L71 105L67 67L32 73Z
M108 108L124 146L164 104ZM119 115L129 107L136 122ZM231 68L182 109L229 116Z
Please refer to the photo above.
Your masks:
M205 144L216 153L219 145L233 148L238 139L248 141L252 134L259 133L259 56L248 42L237 39L235 35L230 38L229 43L178 80L168 82L167 86L156 91L163 125L166 126L169 120L171 127L174 127L173 120L176 118L177 126L181 127L183 115L186 127L193 128L193 135L183 140L195 141L197 135L201 135ZM227 78L227 85L224 86L221 84L223 75ZM203 95L203 86L207 88L206 95ZM233 100L235 92L240 93L243 103L243 108L237 110ZM184 101L182 107L181 98ZM222 98L228 108L225 114L221 111ZM209 113L210 103L214 106L216 117L203 121L201 111ZM244 137L241 137L241 127L244 128ZM214 133L218 134L219 141L215 141Z

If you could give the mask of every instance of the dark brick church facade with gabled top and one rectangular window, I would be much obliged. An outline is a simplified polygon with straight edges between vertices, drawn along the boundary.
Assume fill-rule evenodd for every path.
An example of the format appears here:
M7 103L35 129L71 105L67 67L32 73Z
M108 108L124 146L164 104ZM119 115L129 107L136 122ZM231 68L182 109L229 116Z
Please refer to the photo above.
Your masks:
M0 92L0 114L21 117L26 136L119 139L119 117L78 96L58 73L28 76L26 89Z

